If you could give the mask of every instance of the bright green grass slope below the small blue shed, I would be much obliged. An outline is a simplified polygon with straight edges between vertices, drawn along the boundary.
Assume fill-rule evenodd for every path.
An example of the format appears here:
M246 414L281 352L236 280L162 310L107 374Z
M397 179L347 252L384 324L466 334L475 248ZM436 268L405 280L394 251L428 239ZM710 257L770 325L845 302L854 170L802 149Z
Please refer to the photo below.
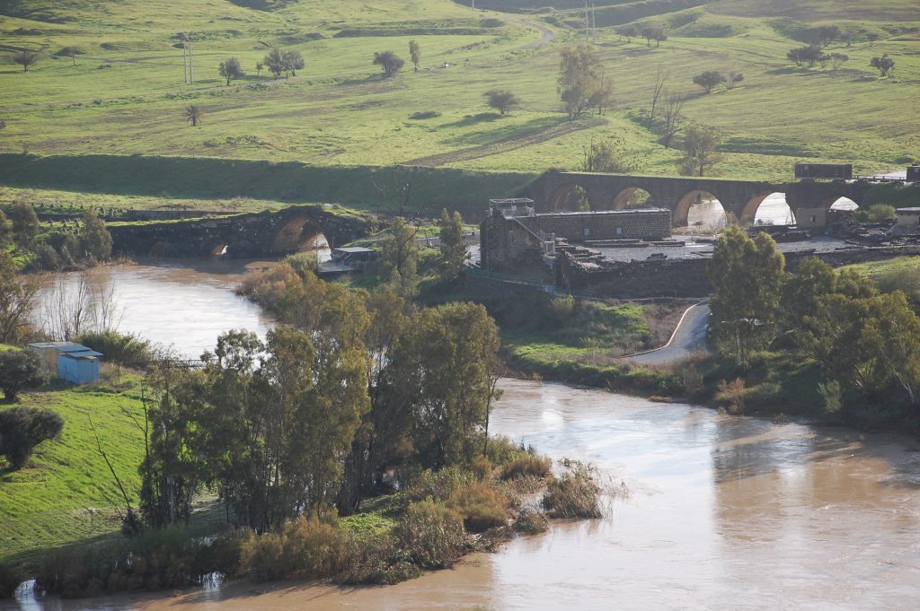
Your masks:
M117 486L98 455L90 422L136 507L144 441L121 413L143 417L136 383L132 379L125 391L102 384L23 396L23 405L60 413L64 426L59 439L35 448L27 467L0 470L0 561L118 531L108 500L119 498Z

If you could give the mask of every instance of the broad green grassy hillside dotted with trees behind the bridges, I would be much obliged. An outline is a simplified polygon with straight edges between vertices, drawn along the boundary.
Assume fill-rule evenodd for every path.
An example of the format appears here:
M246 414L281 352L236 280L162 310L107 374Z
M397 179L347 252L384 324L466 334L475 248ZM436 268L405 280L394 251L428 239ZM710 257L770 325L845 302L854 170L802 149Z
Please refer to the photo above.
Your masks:
M546 8L550 3L560 10ZM599 28L594 46L615 81L615 108L574 124L561 112L556 74L559 48L583 37L581 3L482 0L477 11L468 4L0 2L0 57L40 51L28 74L12 63L0 67L0 120L6 123L0 153L143 154L315 167L415 162L534 173L574 168L586 143L618 136L645 160L646 173L673 175L680 154L661 146L639 119L661 70L666 86L687 97L685 120L724 135L722 161L714 168L719 175L788 178L798 160L852 162L858 172L877 172L920 158L915 0L604 0L596 3L597 23L607 27ZM613 26L637 19L665 25L669 39L659 48L620 40ZM834 42L827 49L846 53L849 61L835 72L788 62L787 51L811 40L821 25L853 36L848 46ZM175 47L180 31L196 40L194 85L183 83L182 51ZM868 34L878 40L870 42ZM418 72L408 62L409 40L421 46ZM55 59L64 46L82 54L75 62ZM256 63L273 46L301 51L305 70L280 80L257 74ZM372 64L374 51L385 50L407 61L390 79ZM869 66L882 53L896 62L887 78ZM224 86L217 67L230 56L240 59L247 76ZM705 70L741 72L744 82L703 95L691 77ZM483 94L496 87L511 88L522 107L505 117L490 113ZM197 128L183 118L192 104L204 109ZM107 191L104 173L86 180L97 182L93 190L100 192L137 192ZM27 186L75 188L55 183L53 175L47 181ZM234 188L213 197L233 197ZM168 177L141 192L171 192ZM337 199L328 189L317 192Z

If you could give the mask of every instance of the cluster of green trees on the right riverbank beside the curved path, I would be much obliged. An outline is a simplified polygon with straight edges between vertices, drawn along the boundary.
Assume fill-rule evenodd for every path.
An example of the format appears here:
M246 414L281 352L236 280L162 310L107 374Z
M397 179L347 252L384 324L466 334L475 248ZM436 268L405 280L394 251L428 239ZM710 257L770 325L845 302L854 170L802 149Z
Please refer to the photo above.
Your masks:
M713 345L742 371L786 353L816 364L831 412L895 398L920 409L920 318L902 290L816 257L788 274L769 235L737 227L719 236L709 277Z

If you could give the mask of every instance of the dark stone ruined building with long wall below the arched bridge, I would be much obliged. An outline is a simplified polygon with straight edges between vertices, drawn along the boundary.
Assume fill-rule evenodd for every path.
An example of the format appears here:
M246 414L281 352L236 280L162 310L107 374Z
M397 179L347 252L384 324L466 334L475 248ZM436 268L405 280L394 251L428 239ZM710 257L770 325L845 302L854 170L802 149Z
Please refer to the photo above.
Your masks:
M560 244L659 241L671 234L667 209L608 210L507 216L493 208L480 226L480 265L496 270L539 263Z

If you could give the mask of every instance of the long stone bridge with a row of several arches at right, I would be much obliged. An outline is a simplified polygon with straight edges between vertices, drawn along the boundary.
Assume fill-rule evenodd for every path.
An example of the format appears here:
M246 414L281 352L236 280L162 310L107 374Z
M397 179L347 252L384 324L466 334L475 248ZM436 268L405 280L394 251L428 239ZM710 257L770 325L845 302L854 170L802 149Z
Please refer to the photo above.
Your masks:
M773 193L785 193L795 215L799 209L829 209L839 198L850 198L861 205L871 187L865 181L767 183L549 171L528 185L522 195L535 200L538 212L572 209L579 195L587 199L592 210L620 210L627 208L638 189L643 189L650 195L649 206L670 209L673 224L684 226L687 212L698 196L711 195L739 221L753 221L761 203Z

